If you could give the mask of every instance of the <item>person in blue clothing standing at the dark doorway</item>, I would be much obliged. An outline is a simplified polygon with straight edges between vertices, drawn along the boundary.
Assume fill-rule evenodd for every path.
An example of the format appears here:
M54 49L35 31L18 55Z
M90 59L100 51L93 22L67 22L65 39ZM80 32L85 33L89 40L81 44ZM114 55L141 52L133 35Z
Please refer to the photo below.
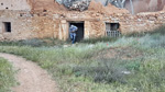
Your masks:
M70 25L70 27L69 27L69 34L70 34L70 38L72 38L72 43L74 44L75 43L75 41L76 41L76 31L78 30L78 27L77 26L75 26L75 25Z

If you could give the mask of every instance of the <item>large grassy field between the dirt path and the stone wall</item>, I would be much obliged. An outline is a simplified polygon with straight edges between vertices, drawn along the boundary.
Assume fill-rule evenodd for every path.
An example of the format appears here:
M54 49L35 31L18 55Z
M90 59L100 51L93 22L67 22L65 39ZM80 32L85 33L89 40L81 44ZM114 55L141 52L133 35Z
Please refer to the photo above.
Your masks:
M165 36L68 47L0 46L0 51L37 62L63 92L164 92Z

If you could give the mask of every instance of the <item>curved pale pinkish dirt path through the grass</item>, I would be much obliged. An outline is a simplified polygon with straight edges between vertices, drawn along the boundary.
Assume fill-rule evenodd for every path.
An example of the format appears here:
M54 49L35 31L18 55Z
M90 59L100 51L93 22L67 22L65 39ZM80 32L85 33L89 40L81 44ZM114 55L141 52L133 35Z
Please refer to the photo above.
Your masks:
M12 89L14 92L58 92L55 82L36 64L10 54L0 54L0 57L19 69L16 79L20 85Z

